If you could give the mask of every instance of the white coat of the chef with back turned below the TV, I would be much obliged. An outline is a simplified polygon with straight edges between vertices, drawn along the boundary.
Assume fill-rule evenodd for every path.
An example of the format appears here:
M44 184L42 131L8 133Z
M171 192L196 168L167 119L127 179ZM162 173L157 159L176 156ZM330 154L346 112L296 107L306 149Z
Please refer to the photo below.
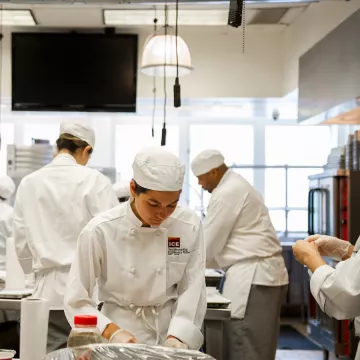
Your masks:
M14 207L14 238L26 274L35 272L34 296L63 309L77 238L97 214L118 204L110 180L59 154L20 183Z

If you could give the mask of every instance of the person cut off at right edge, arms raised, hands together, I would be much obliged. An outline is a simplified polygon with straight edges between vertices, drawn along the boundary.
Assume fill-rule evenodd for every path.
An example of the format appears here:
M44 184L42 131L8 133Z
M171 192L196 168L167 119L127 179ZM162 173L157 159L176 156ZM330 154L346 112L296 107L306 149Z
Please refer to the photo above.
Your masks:
M293 247L296 259L312 272L310 290L322 311L338 320L360 316L360 254L358 240L354 247L348 241L326 235L312 235ZM340 261L336 268L322 256ZM359 319L356 319L359 320ZM359 336L359 321L355 321ZM356 353L360 360L360 350Z

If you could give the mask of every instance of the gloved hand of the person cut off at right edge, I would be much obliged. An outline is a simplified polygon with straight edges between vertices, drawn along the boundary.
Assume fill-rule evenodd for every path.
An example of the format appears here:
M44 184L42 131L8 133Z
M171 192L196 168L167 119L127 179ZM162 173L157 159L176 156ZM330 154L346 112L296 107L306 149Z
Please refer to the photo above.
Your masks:
M320 255L341 261L349 251L350 242L327 235L312 235L305 239L318 246Z

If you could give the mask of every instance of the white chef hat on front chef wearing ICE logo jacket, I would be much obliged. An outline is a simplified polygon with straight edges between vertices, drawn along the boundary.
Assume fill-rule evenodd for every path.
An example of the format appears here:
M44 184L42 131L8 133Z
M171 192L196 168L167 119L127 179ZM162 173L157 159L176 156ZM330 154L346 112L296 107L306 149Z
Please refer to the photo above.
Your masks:
M181 190L185 165L163 147L142 149L133 163L134 180L140 186L157 191Z

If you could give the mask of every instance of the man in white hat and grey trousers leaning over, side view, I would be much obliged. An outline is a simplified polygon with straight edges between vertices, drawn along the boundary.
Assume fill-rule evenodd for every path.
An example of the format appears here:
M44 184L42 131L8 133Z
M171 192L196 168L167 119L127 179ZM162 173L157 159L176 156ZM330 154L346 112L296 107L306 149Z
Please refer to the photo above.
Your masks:
M219 151L205 150L191 166L211 193L204 221L207 267L226 270L227 359L274 360L288 284L282 249L263 199L224 161Z

